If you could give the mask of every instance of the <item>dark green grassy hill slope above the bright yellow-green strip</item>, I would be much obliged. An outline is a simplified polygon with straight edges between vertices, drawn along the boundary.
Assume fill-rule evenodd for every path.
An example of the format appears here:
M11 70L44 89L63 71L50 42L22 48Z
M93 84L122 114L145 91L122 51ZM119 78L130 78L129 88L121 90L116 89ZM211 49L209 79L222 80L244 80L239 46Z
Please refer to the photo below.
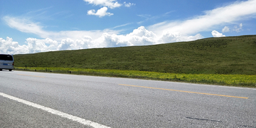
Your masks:
M17 67L256 75L256 36L14 55Z

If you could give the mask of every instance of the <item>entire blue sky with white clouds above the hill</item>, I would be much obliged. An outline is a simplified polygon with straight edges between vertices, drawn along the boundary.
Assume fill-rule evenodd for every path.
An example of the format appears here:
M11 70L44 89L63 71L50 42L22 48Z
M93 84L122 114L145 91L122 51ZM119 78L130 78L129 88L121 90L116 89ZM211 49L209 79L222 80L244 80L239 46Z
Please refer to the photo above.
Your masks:
M256 34L256 0L1 0L0 53Z

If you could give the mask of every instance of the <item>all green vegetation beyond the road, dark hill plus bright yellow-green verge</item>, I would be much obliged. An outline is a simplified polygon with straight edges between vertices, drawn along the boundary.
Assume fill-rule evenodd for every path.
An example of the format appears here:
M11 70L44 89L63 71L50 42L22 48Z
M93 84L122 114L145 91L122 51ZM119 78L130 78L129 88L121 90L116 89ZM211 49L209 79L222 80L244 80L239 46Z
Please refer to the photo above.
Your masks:
M256 87L256 36L14 55L16 70Z

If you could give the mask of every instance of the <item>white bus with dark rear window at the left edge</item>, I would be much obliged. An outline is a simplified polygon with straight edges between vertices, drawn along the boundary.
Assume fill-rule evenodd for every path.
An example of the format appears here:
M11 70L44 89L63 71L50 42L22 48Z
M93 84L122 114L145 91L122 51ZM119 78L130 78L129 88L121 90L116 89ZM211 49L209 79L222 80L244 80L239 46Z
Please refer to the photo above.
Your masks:
M0 54L0 70L13 70L14 69L14 57L9 54Z

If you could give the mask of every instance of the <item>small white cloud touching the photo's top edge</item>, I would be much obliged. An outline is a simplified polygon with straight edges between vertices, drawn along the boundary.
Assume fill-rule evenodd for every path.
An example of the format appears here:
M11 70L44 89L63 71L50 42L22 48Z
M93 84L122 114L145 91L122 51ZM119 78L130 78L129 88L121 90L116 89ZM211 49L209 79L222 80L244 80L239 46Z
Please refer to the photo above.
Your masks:
M110 9L117 8L119 6L122 6L122 4L119 4L116 0L84 0L88 2L89 4L94 4L96 6L107 6Z

